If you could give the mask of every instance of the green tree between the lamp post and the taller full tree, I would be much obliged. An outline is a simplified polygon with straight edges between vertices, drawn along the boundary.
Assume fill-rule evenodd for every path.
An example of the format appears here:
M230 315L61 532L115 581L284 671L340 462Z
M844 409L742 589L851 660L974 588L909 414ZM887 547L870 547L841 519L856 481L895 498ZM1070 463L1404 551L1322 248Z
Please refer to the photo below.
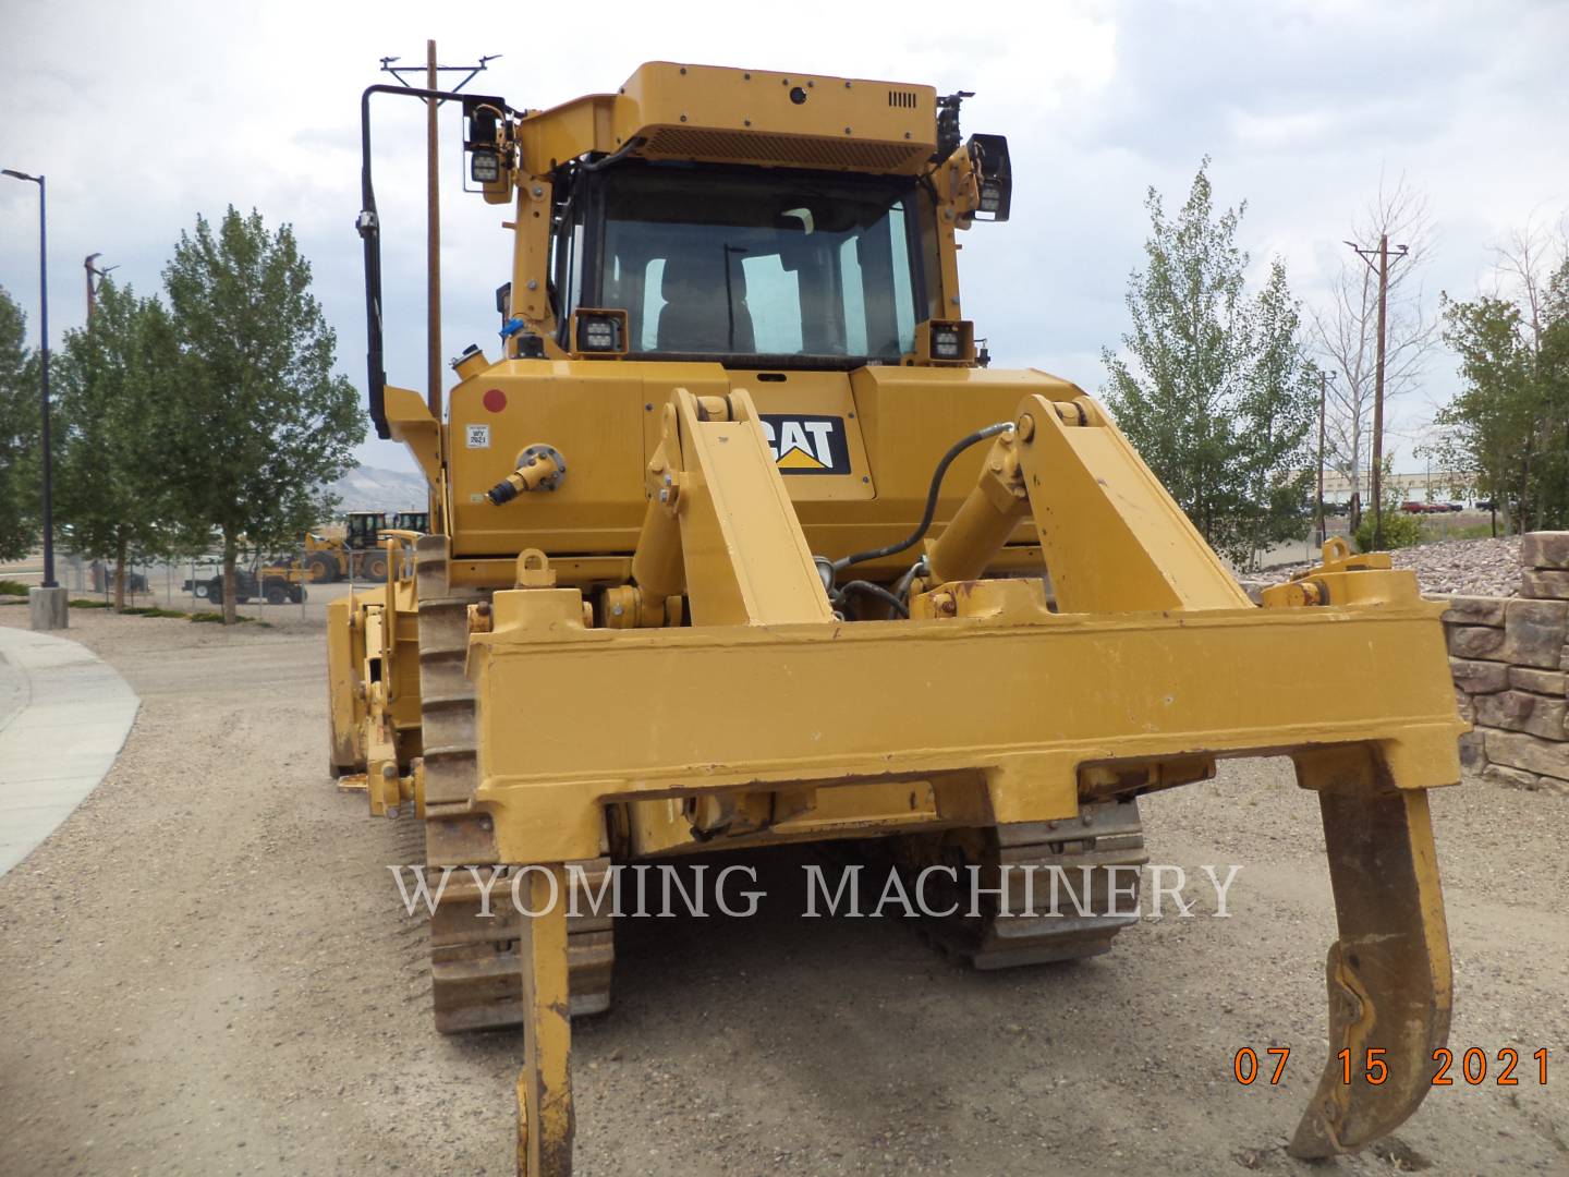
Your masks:
M163 461L163 395L179 359L163 304L108 279L91 326L61 342L55 518L78 554L113 562L116 609L127 559L168 556L179 538Z

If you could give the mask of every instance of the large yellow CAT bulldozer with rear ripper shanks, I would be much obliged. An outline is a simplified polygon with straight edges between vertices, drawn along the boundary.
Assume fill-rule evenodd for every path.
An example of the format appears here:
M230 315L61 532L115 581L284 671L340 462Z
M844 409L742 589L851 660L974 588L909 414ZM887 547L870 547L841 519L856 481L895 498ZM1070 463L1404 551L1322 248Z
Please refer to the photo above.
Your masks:
M461 104L469 180L508 206L501 350L444 406L383 372L389 93ZM1287 755L1321 802L1331 1056L1293 1152L1428 1089L1426 789L1465 730L1440 607L1338 540L1255 606L1101 405L987 366L957 234L1007 220L1012 173L962 97L673 63L549 110L362 97L370 416L433 513L329 604L331 766L424 821L430 868L477 868L431 915L435 1020L522 1028L526 1174L571 1169L571 1020L610 1004L615 923L577 901L620 866L876 844L988 882L932 927L976 967L1076 959L1130 920L1015 902L1020 873L1103 893L1145 860L1138 797L1219 756ZM521 902L486 918L496 871ZM1385 1078L1343 1081L1345 1050Z

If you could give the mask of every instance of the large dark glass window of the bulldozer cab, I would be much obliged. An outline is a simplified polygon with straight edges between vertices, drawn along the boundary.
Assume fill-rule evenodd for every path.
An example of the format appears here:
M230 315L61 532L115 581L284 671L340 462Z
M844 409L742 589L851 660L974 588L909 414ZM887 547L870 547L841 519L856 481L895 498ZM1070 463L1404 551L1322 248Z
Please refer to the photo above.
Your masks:
M604 176L598 306L642 356L897 361L919 279L908 180L623 168Z

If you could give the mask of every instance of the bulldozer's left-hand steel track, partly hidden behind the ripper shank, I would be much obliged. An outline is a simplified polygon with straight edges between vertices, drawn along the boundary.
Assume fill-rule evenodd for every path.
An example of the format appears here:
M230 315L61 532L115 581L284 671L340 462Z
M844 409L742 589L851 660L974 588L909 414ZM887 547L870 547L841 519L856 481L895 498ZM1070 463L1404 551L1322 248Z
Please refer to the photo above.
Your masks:
M479 866L486 882L494 858L490 819L471 803L479 785L474 687L464 673L469 606L482 593L453 595L447 584L446 545L424 537L417 549L419 678L425 758L425 858L433 868ZM574 863L577 910L568 916L571 1012L599 1014L610 1008L615 932L609 915L590 915L582 888L598 891L609 858ZM581 885L577 885L581 879ZM511 901L511 868L483 891L468 871L453 871L430 918L430 979L436 1029L460 1034L522 1023L522 964L518 938L522 915Z

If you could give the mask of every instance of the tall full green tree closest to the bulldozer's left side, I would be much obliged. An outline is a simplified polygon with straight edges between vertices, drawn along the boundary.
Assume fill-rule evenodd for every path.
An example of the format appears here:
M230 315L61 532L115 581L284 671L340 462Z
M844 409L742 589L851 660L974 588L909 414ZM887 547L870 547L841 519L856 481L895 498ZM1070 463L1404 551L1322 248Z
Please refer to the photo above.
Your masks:
M235 620L242 545L293 545L331 510L325 485L364 438L336 336L293 231L231 206L196 218L163 271L184 352L168 400L171 479L185 516L223 537L223 615Z

